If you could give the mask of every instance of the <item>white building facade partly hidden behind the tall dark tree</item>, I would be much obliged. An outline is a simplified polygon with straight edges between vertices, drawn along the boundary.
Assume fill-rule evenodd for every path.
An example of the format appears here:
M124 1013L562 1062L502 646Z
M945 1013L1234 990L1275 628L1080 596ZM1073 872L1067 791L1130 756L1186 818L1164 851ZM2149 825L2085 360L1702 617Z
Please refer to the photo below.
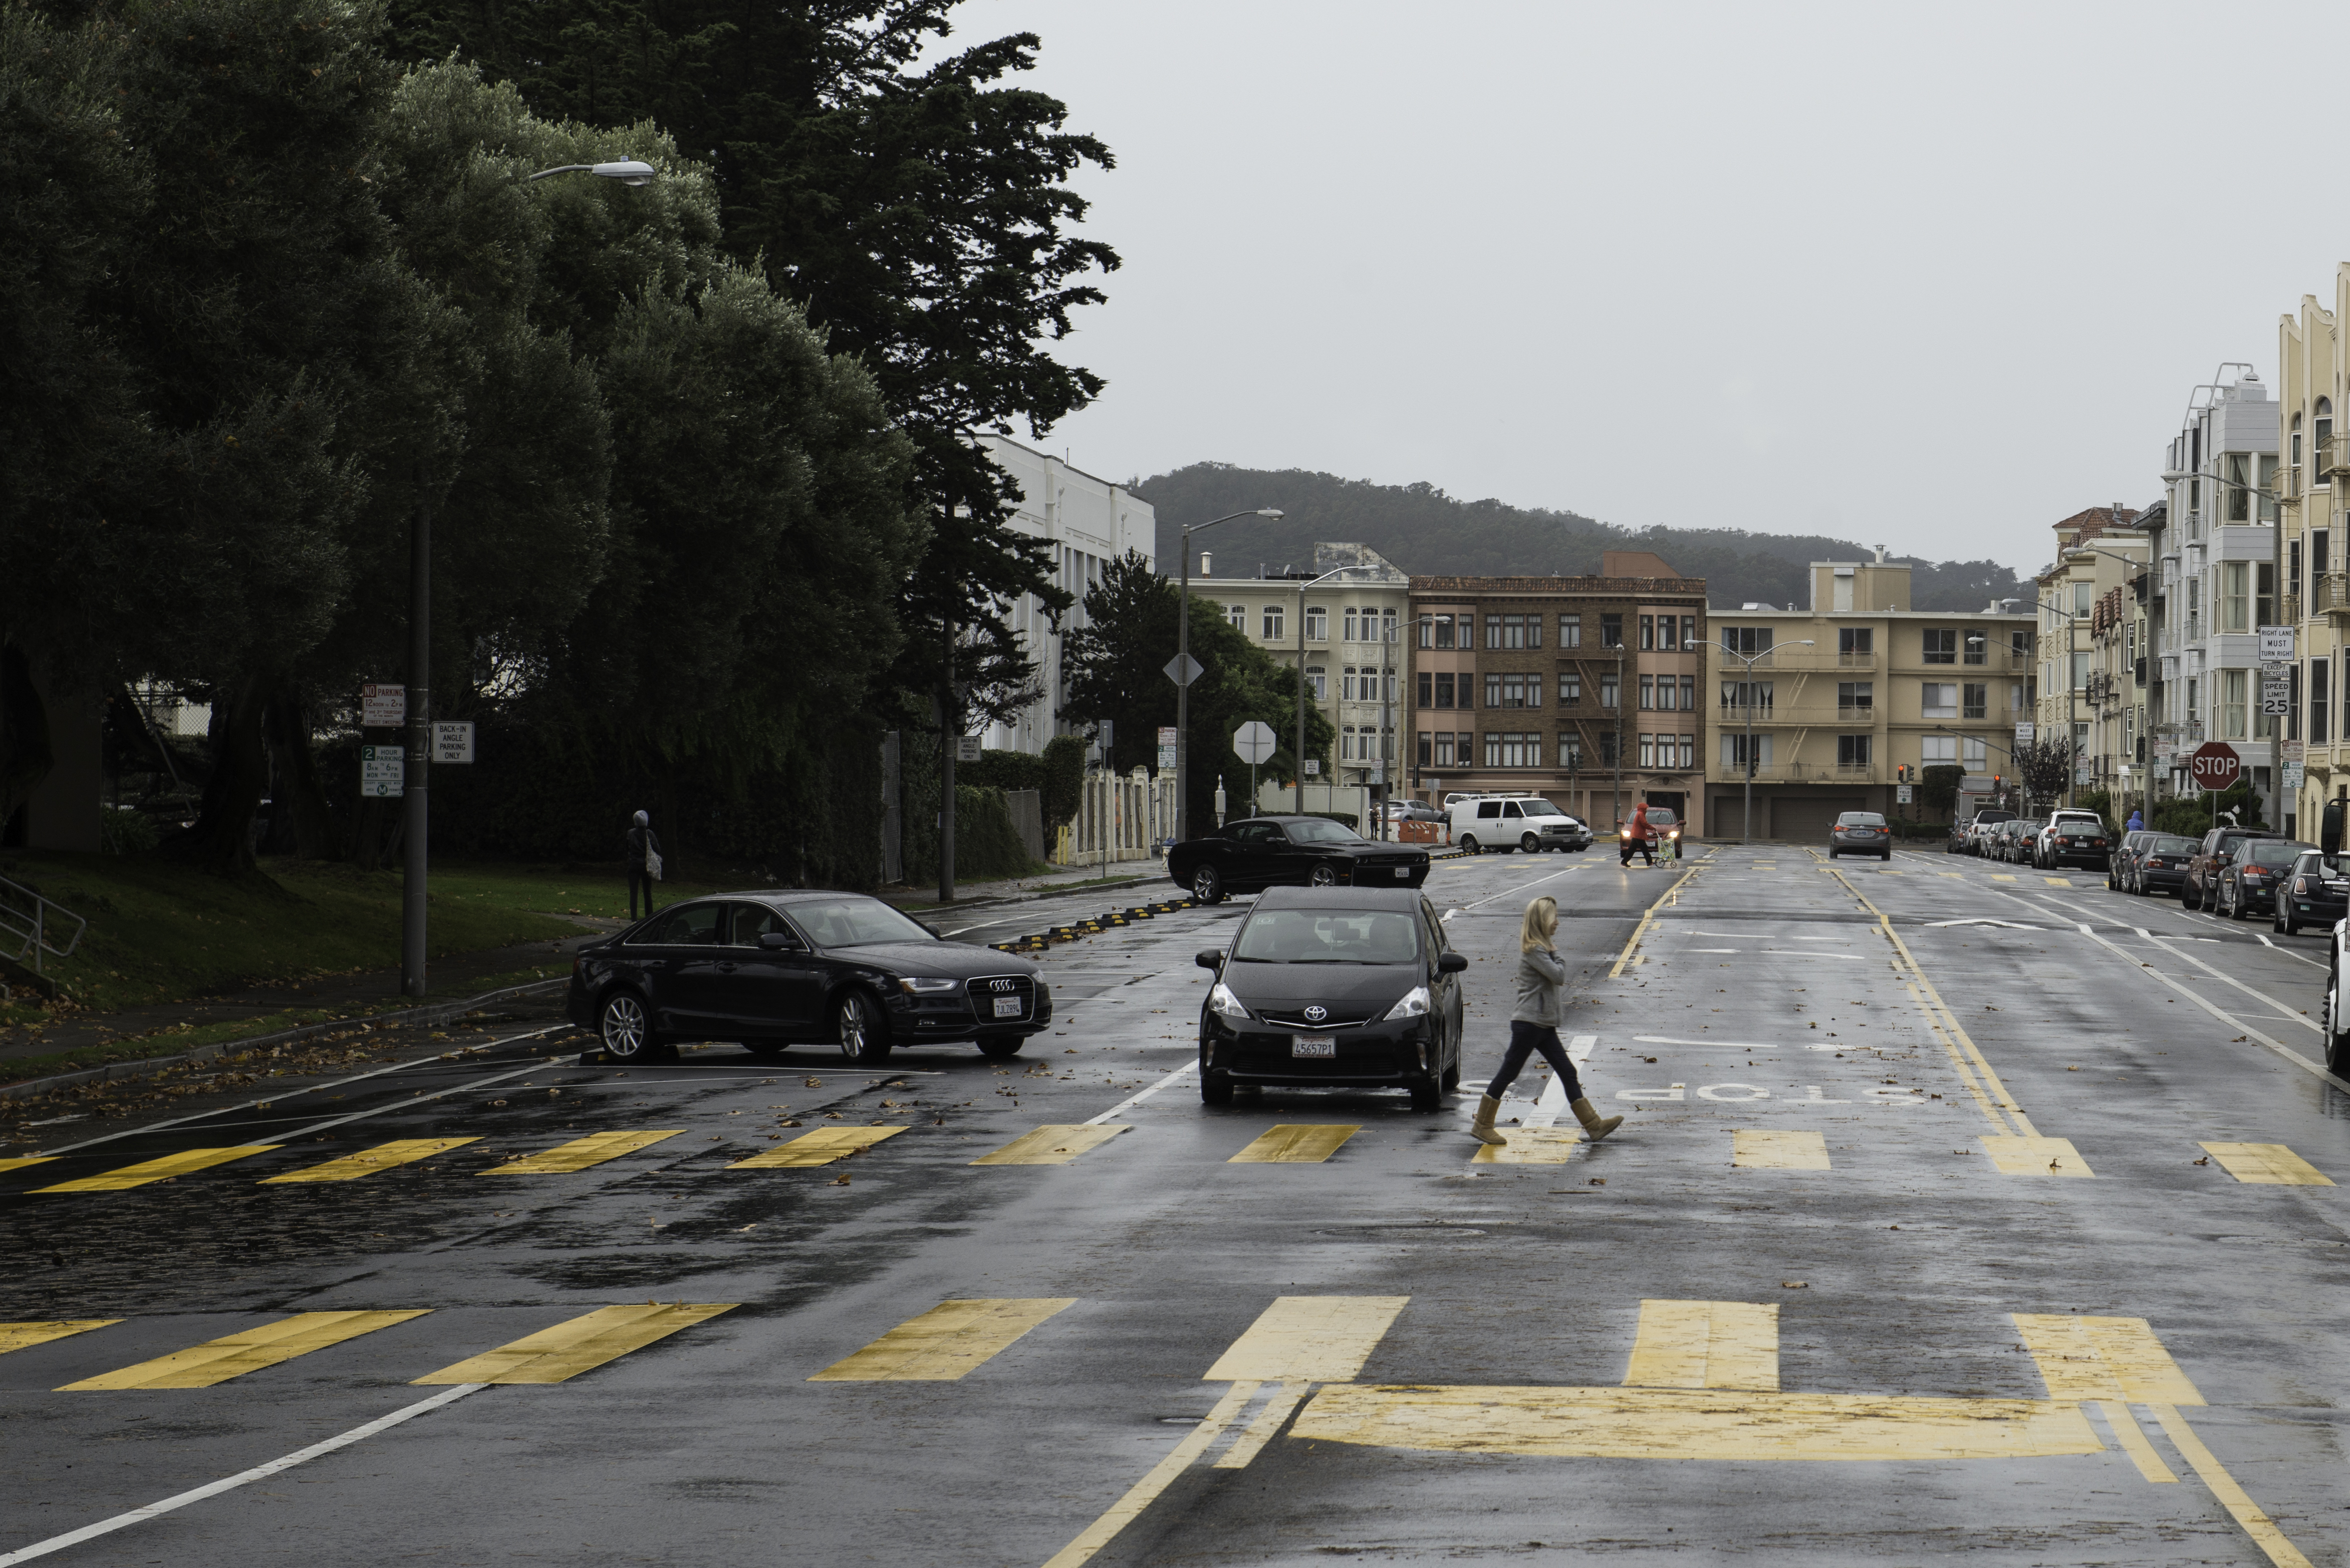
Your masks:
M1013 630L1036 661L1043 696L1001 724L982 731L980 745L1003 752L1043 752L1046 741L1065 733L1058 719L1062 705L1060 644L1062 632L1086 625L1086 590L1102 581L1102 567L1128 550L1156 569L1159 515L1149 501L1123 484L1112 484L1062 458L1022 447L1003 435L980 437L992 456L1020 487L1013 529L1053 543L1053 583L1079 602L1062 616L1060 630L1034 595L1022 595L1010 609Z

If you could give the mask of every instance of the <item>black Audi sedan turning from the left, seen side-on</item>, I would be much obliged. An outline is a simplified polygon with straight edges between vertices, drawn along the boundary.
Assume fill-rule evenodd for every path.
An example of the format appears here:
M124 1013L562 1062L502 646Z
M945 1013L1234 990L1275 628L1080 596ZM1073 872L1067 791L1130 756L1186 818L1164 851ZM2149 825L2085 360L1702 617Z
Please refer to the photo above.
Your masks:
M851 1063L893 1046L1018 1056L1053 1023L1027 959L942 940L862 893L721 893L660 910L571 959L571 1023L632 1063L731 1039L759 1058L830 1044Z

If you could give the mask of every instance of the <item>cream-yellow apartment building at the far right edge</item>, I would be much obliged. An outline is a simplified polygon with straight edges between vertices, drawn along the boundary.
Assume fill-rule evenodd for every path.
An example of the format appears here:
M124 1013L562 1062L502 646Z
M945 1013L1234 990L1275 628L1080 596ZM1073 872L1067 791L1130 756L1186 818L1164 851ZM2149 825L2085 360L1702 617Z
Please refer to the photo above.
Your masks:
M2350 263L2334 268L2334 308L2301 296L2301 313L2277 322L2277 411L2282 451L2275 508L2282 515L2280 623L2294 628L2287 670L2282 827L2312 837L2326 799L2350 797L2350 440L2336 435L2334 409L2350 397L2341 322L2350 310ZM2265 750L2265 748L2263 748ZM2294 759L2301 750L2301 762ZM2268 757L2261 757L2265 769ZM2277 809L2270 809L2277 820Z

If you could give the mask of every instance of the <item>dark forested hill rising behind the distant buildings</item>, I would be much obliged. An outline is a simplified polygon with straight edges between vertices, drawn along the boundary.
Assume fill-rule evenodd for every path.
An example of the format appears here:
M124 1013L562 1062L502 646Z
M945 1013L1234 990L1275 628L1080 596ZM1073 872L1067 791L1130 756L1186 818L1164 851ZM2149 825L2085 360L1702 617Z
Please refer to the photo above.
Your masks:
M1683 576L1706 578L1716 609L1748 602L1810 602L1810 562L1859 562L1875 550L1819 534L1748 534L1746 529L1624 529L1577 512L1502 501L1455 501L1434 484L1370 484L1302 468L1191 463L1140 480L1135 494L1159 510L1159 562L1173 576L1182 524L1271 505L1281 522L1246 517L1194 536L1215 555L1217 576L1255 576L1257 564L1304 567L1314 541L1365 543L1405 571L1459 576L1593 574L1603 550L1654 550ZM1998 562L1922 562L1913 567L1915 609L1983 609L1990 599L2028 599L2016 574ZM1198 562L1194 562L1198 571Z

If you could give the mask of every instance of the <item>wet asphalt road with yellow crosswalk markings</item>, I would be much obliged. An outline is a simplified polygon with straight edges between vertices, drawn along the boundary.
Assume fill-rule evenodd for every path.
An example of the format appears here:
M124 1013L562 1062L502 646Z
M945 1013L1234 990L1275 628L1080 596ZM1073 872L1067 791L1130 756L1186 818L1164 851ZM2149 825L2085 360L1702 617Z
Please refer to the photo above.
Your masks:
M345 1434L47 1561L2341 1563L2350 1232L2305 1182L2350 1180L2350 1095L2294 1060L2322 940L2063 882L1443 863L1471 1086L1434 1117L1198 1103L1224 905L1055 947L1055 1032L1010 1063L613 1070L517 1016L143 1112L176 1126L24 1128L9 1157L66 1152L0 1171L0 1563ZM1563 1034L1629 1121L1528 1150L1572 1126L1528 1074L1504 1117L1553 1161L1480 1164L1535 891L1582 969ZM1128 1131L971 1164L1088 1121ZM1358 1131L1231 1164L1276 1124ZM728 1168L844 1126L902 1131ZM470 1143L266 1180L402 1140ZM343 1312L385 1316L146 1366Z

